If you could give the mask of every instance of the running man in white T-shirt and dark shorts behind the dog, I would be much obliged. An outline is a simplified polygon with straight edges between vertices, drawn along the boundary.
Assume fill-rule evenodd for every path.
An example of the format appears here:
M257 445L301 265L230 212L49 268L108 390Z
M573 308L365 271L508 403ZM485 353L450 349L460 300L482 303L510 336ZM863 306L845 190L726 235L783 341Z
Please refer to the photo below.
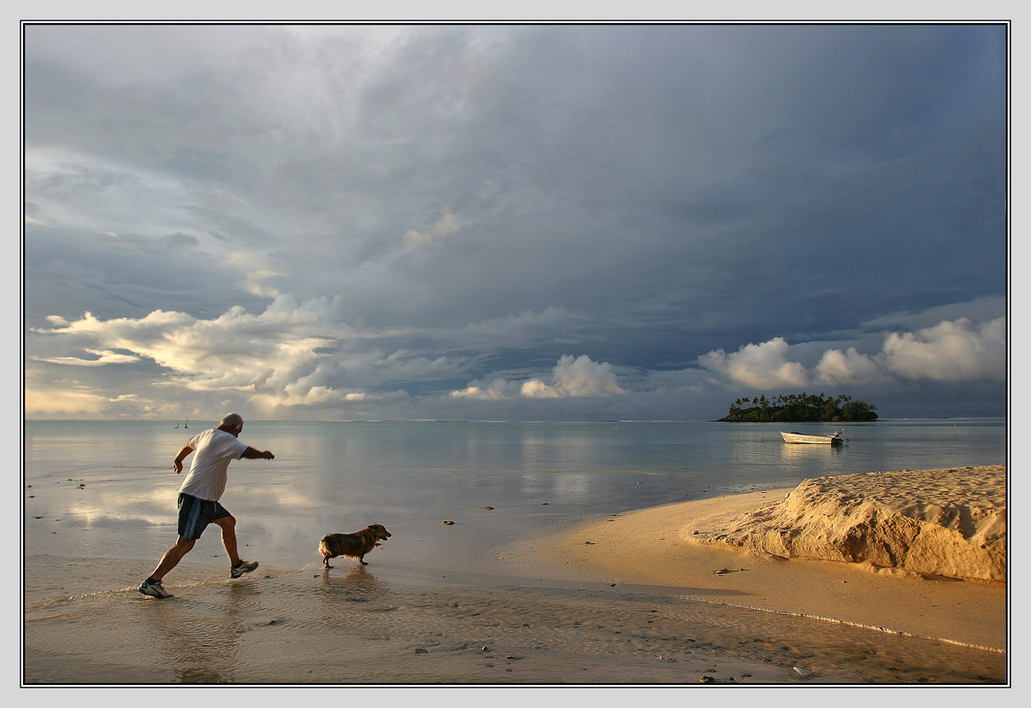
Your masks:
M246 562L240 559L236 551L236 519L222 504L219 498L226 488L229 463L232 460L246 458L248 460L274 460L268 450L259 452L254 447L243 444L237 437L243 430L243 418L236 413L230 413L222 418L218 428L206 430L190 439L179 453L175 456L172 467L175 474L182 471L182 461L195 451L190 473L179 487L179 528L175 545L165 551L158 567L144 580L139 592L152 598L164 600L173 597L161 585L162 578L190 552L197 539L208 524L214 524L222 529L222 545L229 553L229 577L238 578L258 567L258 562Z

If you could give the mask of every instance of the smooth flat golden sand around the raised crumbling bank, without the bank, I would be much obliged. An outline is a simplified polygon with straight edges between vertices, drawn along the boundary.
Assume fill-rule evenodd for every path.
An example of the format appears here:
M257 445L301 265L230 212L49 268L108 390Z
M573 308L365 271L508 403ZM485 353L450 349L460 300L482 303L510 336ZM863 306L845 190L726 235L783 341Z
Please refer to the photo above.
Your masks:
M516 572L532 574L530 566L540 564L540 572L559 579L673 587L679 597L710 604L1005 651L1004 583L691 540L719 536L794 488L612 513L532 539L531 551L510 547L509 564ZM920 496L920 490L908 493Z

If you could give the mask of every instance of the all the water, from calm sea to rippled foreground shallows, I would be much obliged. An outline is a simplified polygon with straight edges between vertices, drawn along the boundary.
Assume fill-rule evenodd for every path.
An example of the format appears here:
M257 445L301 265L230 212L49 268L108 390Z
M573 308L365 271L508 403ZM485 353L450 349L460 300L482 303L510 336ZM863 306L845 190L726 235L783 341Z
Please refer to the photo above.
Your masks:
M166 578L177 597L144 599L135 586L175 538L171 459L204 427L26 425L27 683L1005 680L996 652L668 588L511 577L498 559L517 539L656 504L1001 464L1001 420L878 422L816 449L764 425L247 424L241 440L276 459L234 462L222 501L261 568L230 582L212 528ZM372 522L394 534L372 565L323 573L319 539Z

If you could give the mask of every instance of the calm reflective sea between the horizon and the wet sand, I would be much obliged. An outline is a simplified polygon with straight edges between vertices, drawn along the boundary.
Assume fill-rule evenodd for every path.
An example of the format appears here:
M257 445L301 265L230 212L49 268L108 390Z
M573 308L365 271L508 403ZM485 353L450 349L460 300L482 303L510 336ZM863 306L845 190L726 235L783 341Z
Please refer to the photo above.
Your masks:
M77 557L145 576L175 538L181 477L172 458L191 434L215 424L176 425L26 423L27 565L54 554L56 541L73 539ZM852 425L842 447L786 445L780 428L248 423L240 439L270 449L275 460L233 462L222 502L238 518L241 555L263 566L318 563L323 535L378 522L394 533L371 557L380 567L491 572L496 547L593 516L793 486L822 475L1006 462L1003 419ZM788 428L832 433L840 427ZM225 564L217 533L206 534L198 548L189 565Z

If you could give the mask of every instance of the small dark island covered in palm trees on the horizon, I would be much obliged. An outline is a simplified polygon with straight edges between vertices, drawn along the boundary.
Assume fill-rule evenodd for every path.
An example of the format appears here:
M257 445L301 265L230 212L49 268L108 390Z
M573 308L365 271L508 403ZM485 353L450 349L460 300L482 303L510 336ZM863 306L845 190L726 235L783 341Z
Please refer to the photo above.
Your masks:
M876 420L876 406L851 396L830 398L820 394L789 394L766 398L739 398L720 423L841 423Z

